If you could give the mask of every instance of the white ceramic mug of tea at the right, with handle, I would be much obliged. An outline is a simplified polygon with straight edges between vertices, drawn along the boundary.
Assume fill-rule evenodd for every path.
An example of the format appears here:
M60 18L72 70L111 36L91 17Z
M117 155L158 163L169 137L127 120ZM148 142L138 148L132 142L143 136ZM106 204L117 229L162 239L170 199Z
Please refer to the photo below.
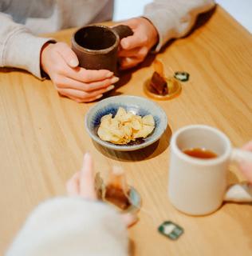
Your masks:
M216 158L193 158L183 150L204 148ZM186 214L210 214L223 201L252 202L252 186L236 184L227 188L230 161L252 162L252 153L232 149L229 138L211 126L185 126L171 138L168 195L175 208Z

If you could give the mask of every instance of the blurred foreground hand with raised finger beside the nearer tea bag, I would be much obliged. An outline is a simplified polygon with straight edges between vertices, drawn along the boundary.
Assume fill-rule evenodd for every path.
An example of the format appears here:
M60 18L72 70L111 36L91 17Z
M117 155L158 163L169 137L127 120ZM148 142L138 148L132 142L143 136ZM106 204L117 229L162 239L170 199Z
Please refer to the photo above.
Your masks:
M73 174L73 177L67 182L66 190L69 196L81 196L88 200L97 200L93 159L89 153L84 156L81 170ZM122 214L121 217L126 226L132 226L137 221L136 216L132 214Z

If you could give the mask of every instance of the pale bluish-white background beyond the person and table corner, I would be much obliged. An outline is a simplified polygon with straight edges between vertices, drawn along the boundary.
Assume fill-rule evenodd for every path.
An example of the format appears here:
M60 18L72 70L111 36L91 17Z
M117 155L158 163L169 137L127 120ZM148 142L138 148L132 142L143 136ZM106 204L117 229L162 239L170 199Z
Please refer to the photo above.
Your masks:
M144 5L152 0L115 0L114 20L143 14ZM252 0L216 0L231 16L252 33Z

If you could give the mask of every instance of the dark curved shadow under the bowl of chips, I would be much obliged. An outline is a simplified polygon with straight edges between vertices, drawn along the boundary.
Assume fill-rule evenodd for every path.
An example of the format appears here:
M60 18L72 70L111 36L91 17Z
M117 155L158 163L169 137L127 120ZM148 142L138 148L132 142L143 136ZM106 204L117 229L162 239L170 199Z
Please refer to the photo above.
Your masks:
M154 142L152 145L147 146L144 149L128 152L110 150L104 146L100 146L94 141L93 144L96 147L96 150L99 150L101 154L104 154L104 156L108 158L122 162L136 162L156 158L156 156L162 154L170 145L171 134L171 127L167 126L167 129L157 142Z

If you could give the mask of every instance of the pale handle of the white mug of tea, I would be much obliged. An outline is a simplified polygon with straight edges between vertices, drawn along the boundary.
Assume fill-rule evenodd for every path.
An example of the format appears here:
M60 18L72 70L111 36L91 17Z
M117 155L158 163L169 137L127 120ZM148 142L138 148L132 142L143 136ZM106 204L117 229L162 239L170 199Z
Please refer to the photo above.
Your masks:
M230 160L233 162L247 162L252 165L252 152L233 149ZM252 202L252 184L249 182L242 182L230 186L226 191L224 201Z

